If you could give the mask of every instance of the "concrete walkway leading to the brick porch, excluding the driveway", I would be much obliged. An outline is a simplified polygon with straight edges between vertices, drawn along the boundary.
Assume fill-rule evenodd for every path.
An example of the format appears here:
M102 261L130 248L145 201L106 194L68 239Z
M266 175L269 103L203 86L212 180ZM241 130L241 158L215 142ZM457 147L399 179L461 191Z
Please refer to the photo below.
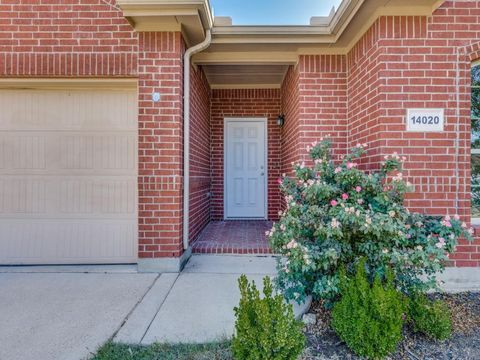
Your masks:
M202 343L231 337L237 279L259 285L275 274L275 259L194 255L181 274L162 274L114 338L116 342Z

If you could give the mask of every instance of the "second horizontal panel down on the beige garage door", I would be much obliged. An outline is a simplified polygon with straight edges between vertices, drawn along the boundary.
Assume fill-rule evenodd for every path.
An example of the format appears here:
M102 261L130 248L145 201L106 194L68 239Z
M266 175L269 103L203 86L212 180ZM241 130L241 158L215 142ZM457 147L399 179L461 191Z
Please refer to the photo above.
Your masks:
M133 132L0 131L0 174L132 174Z

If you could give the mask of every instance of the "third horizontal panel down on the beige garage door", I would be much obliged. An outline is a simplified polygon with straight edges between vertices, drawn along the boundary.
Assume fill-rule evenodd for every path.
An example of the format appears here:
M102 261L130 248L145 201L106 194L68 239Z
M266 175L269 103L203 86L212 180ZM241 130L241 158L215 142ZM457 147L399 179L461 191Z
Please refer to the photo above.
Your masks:
M136 177L8 176L0 179L2 217L136 215Z

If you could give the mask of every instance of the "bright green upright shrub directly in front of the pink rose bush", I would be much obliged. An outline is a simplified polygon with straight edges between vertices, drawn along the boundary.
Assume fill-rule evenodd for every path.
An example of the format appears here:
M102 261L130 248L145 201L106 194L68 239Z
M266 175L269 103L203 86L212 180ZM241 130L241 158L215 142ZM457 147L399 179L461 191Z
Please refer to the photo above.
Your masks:
M365 260L354 277L340 277L341 298L332 311L332 327L357 355L382 359L402 338L406 298L395 289L391 271L385 284L379 276L370 285Z

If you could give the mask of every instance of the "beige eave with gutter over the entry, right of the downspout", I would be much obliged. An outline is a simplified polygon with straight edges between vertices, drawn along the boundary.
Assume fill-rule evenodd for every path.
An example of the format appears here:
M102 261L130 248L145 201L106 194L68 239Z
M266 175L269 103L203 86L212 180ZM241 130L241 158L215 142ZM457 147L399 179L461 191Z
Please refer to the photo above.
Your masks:
M380 16L430 16L444 1L343 0L319 25L214 26L211 46L194 62L278 63L301 54L346 54Z

